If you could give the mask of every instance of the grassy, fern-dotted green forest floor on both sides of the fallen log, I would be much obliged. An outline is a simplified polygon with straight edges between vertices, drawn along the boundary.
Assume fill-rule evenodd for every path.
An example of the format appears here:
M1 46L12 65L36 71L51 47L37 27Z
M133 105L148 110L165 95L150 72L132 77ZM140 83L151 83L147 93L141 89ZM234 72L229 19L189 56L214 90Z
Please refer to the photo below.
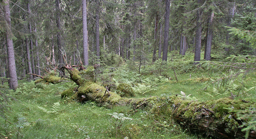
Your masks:
M177 95L193 101L232 97L255 102L255 71L214 82L237 71L209 65L196 67L192 65L192 59L192 55L177 56L168 67L162 67L161 61L156 61L153 66L142 66L140 74L138 67L131 66L138 63L128 61L120 66L117 62L115 66L101 69L96 74L96 82L101 85L111 84L112 92L115 92L118 84L127 83L135 92L134 98ZM178 81L170 67L174 67ZM34 81L24 79L19 81L19 88L12 91L7 89L5 82L1 89L12 98L9 98L6 105L9 107L4 110L6 119L0 117L0 138L203 138L201 135L204 133L191 133L189 129L181 127L186 126L186 123L155 119L154 114L147 109L136 112L125 106L107 109L90 101L79 103L72 98L61 98L64 90L75 86L72 82L35 84Z

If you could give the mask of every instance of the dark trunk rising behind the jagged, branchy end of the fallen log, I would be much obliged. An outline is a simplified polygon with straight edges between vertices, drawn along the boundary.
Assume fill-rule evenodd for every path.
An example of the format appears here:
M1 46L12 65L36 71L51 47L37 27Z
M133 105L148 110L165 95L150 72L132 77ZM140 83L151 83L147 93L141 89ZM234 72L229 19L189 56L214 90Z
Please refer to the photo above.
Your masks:
M62 44L61 44L61 17L60 17L60 0L56 0L56 23L58 27L57 31L57 45L58 45L58 60L59 60L59 68L62 67L63 57L62 57ZM61 73L60 73L61 74Z

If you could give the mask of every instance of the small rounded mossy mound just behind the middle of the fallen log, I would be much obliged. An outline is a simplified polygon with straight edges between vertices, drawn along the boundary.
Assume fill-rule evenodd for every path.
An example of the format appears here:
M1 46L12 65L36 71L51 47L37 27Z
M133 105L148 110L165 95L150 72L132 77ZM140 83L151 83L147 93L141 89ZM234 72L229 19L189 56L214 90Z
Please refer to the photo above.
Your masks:
M132 97L134 96L134 91L132 87L127 83L120 83L116 88L117 94L121 97Z

